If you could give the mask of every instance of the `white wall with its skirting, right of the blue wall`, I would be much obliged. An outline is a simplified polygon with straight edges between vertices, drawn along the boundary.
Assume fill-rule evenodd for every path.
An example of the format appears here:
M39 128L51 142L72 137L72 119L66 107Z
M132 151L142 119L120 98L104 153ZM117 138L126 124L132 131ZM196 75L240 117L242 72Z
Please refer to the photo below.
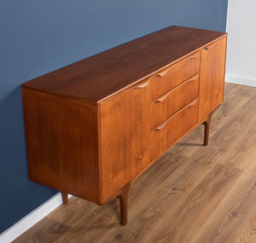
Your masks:
M229 0L226 81L256 87L256 1Z

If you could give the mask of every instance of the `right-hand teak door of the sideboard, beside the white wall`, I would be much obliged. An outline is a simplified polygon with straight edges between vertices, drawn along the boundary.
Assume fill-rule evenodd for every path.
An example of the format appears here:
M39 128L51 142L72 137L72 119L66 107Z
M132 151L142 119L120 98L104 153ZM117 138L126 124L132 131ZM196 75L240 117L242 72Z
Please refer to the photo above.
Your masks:
M201 50L199 121L224 100L226 38Z

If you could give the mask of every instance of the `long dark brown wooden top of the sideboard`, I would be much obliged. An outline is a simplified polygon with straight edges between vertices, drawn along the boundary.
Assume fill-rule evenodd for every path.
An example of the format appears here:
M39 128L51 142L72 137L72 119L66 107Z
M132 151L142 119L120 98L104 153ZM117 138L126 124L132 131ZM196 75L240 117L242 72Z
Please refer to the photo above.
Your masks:
M34 78L22 87L97 103L225 35L170 26Z

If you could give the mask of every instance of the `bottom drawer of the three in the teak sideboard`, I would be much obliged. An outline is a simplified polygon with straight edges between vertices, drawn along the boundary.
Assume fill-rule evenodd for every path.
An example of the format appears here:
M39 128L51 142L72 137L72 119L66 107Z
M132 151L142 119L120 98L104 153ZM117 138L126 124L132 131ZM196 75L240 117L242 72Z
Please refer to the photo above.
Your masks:
M197 124L198 99L150 132L150 161L157 159Z

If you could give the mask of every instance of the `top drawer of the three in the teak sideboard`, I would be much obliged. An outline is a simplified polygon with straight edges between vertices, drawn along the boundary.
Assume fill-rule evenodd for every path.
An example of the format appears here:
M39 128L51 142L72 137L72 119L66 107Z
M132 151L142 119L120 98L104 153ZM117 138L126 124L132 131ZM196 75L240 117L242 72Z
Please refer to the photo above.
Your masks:
M154 74L151 80L151 100L172 90L200 69L200 52L178 61L171 67Z

